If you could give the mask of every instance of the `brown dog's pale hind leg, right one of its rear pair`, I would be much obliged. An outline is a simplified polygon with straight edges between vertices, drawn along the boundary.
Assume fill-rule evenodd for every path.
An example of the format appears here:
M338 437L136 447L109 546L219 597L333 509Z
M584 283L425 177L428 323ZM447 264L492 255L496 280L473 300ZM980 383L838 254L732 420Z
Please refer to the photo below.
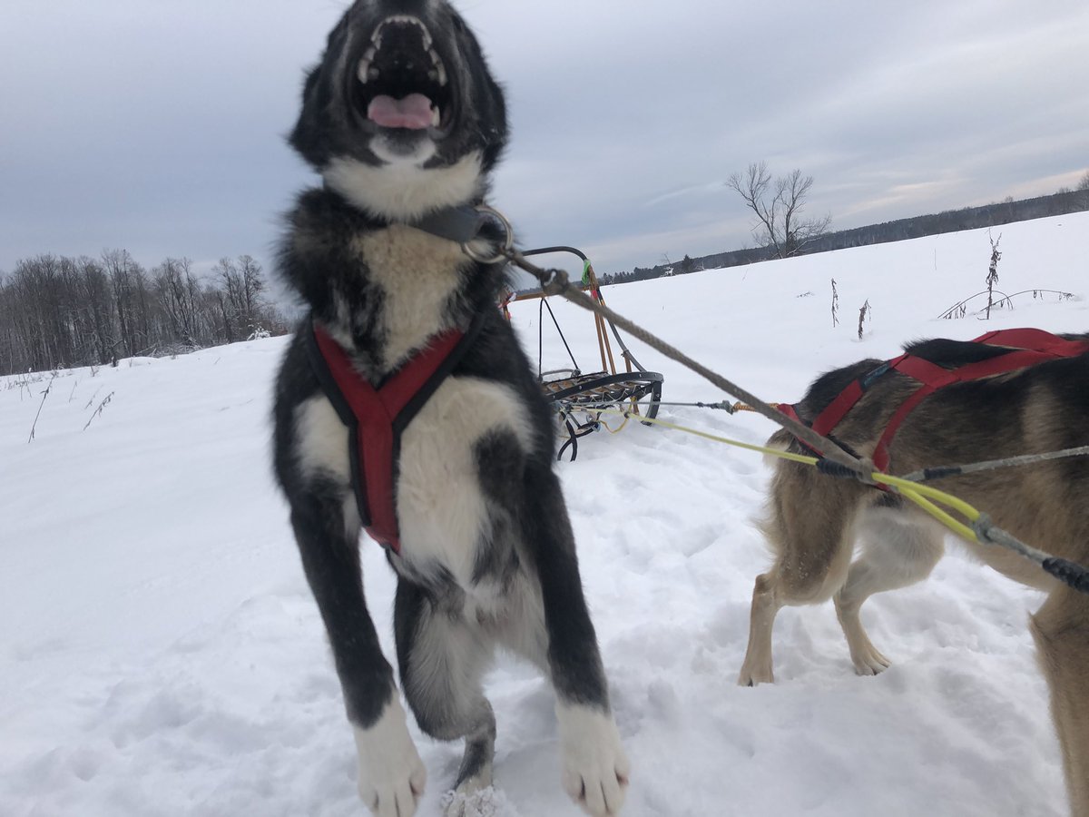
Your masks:
M859 536L865 550L835 594L835 614L847 637L855 671L876 675L889 668L889 659L870 643L859 609L874 593L907 587L929 576L945 546L939 528L895 508L864 511Z

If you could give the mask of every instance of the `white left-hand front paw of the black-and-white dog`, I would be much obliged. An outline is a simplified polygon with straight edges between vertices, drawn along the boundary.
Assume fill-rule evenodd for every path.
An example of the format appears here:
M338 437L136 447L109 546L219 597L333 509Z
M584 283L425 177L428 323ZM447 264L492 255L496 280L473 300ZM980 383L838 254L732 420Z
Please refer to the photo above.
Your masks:
M427 770L408 735L405 710L394 694L378 722L355 729L359 797L378 817L413 817Z

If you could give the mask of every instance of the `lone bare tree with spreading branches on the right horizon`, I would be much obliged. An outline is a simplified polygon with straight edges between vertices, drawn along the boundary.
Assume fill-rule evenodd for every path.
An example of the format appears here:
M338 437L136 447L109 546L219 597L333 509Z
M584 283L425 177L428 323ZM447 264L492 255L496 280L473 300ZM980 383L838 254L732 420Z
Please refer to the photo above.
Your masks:
M745 200L756 214L752 234L776 258L797 255L810 241L823 234L832 222L831 216L802 218L802 210L812 187L813 178L803 176L798 169L786 175L771 178L767 162L754 162L743 173L734 173L726 186Z

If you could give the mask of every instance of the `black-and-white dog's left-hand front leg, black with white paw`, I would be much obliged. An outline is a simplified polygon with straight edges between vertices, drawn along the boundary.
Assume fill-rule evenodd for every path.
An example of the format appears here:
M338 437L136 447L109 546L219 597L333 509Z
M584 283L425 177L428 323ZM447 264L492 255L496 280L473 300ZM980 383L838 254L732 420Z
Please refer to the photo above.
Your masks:
M358 524L345 520L346 491L314 486L292 503L306 578L329 634L359 761L359 796L379 817L412 817L427 772L367 612Z

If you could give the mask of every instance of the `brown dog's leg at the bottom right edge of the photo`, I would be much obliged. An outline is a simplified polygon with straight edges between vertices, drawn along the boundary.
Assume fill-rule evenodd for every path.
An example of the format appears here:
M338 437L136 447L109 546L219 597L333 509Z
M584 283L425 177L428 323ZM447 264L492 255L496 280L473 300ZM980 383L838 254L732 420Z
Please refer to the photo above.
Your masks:
M1063 749L1072 817L1089 817L1089 597L1052 590L1032 617L1051 716Z

